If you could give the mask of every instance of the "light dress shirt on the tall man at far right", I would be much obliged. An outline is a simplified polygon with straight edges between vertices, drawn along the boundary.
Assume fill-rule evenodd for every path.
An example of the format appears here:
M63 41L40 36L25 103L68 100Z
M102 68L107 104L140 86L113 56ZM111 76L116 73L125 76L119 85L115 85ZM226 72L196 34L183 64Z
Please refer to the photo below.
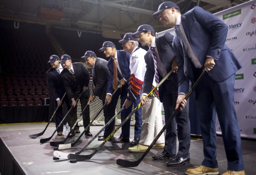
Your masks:
M191 61L193 62L193 64L195 65L196 68L201 68L202 65L201 63L199 62L194 50L192 49L190 43L188 42L188 39L186 37L186 34L184 32L184 28L183 28L183 25L181 23L181 15L179 15L177 17L177 20L176 20L176 25L180 25L180 29L181 29L181 34L182 34L182 38L183 38L183 47L184 47L184 51L186 52L186 54L188 55L188 58L191 59ZM173 27L175 29L175 26Z

